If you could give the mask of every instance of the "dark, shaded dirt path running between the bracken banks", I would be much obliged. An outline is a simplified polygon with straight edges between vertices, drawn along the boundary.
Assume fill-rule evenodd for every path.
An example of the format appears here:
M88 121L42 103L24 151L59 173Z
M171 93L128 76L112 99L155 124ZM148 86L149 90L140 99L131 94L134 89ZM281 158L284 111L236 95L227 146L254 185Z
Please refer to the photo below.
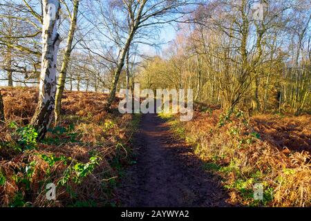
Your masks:
M134 144L137 163L116 194L121 206L229 206L218 177L202 170L191 148L156 114L142 116Z

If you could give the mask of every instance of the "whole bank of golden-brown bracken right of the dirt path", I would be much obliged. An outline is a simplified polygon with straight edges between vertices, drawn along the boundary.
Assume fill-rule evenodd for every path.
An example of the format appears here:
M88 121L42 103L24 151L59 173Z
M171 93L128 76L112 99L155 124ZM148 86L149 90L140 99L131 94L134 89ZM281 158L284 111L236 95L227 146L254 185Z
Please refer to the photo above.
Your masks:
M192 121L171 125L194 146L208 171L224 177L231 203L311 206L310 115L235 113L221 121L221 110L207 112L196 111ZM253 198L256 183L263 184L262 201Z

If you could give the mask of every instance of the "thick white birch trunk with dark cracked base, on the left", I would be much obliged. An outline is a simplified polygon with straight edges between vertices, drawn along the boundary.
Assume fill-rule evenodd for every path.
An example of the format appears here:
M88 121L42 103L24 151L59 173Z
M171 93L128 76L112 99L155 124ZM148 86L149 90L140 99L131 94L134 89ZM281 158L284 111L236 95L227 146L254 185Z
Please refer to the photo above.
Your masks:
M39 102L35 115L30 122L30 125L36 129L39 140L44 138L53 120L56 93L56 61L61 41L57 33L57 20L60 9L59 1L44 0L42 4L44 20L42 26L43 48L39 83ZM53 13L54 10L55 13Z

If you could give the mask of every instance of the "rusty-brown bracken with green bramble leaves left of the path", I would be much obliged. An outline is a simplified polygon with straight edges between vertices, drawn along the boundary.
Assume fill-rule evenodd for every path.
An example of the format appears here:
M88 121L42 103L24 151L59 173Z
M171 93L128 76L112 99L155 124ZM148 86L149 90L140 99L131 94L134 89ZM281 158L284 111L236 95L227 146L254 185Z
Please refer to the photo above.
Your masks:
M132 116L104 112L102 93L66 92L61 124L36 148L21 152L9 124L28 124L37 89L4 88L2 95L8 125L0 126L0 205L111 205L111 191L130 151ZM45 187L51 182L58 184L56 201L46 200Z

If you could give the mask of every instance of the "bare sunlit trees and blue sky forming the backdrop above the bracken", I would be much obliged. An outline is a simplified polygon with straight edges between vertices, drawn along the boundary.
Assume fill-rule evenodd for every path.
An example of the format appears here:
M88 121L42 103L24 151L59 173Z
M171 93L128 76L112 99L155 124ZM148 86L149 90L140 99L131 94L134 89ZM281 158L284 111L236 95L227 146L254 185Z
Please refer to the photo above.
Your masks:
M135 1L61 3L57 107L64 87L114 89L112 100L116 87L142 82L193 88L196 101L226 109L310 110L309 1L263 2L262 21L253 17L253 1L147 1L142 17ZM162 56L142 55L140 45L163 43L159 32L169 21L176 39ZM40 1L1 3L1 80L8 86L39 83L42 22Z

